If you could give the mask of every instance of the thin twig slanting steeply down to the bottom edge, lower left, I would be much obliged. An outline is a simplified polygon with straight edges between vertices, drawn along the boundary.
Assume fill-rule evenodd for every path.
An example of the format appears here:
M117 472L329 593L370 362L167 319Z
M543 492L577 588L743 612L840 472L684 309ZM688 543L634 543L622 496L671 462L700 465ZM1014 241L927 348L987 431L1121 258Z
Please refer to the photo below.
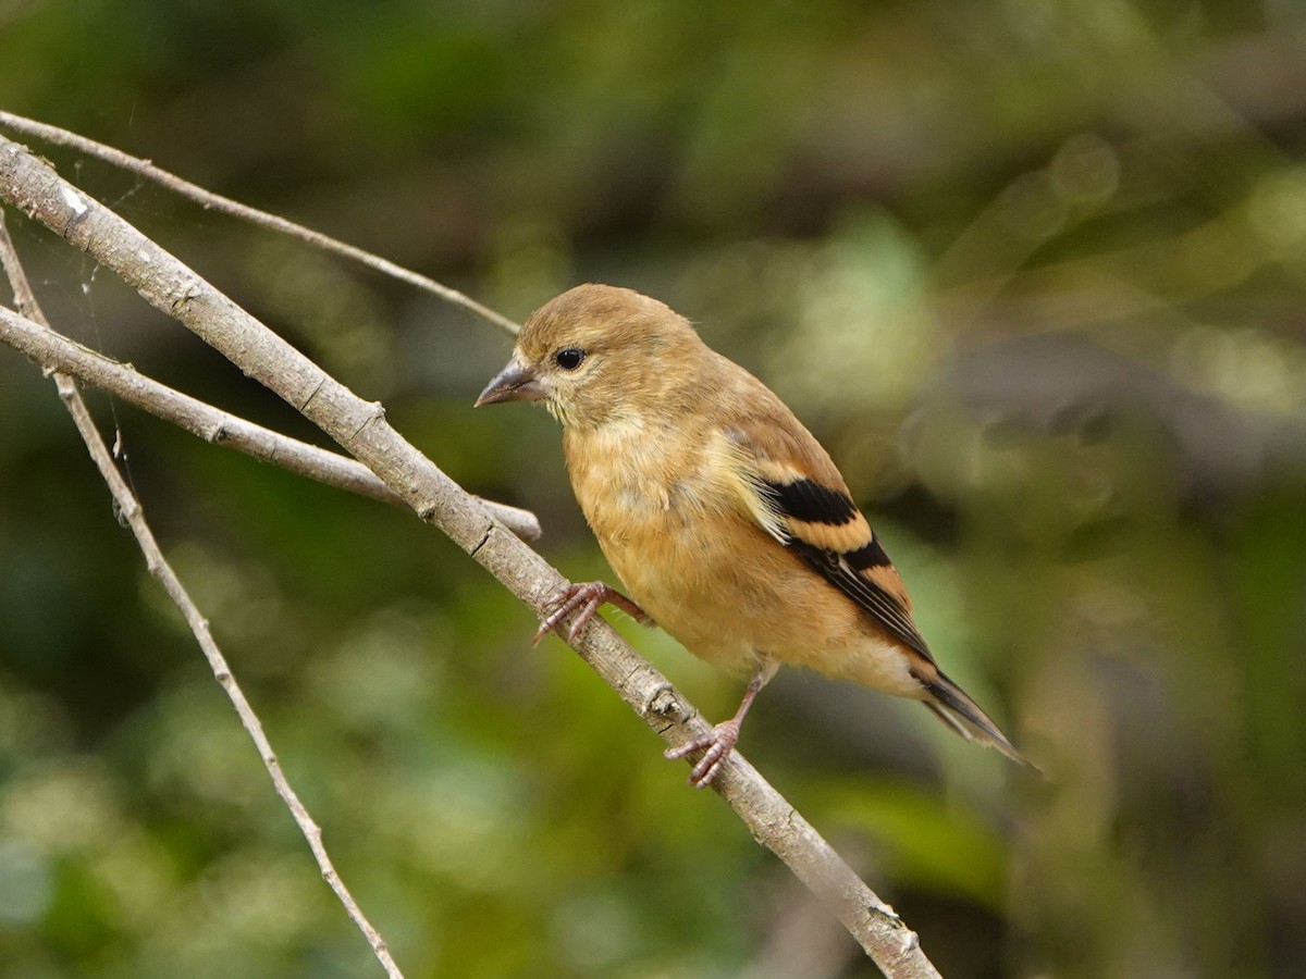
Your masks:
M48 328L48 320L46 320L46 316L37 302L37 296L31 291L27 275L22 269L22 264L18 261L18 253L14 251L13 240L9 238L9 230L5 227L3 210L0 210L0 265L4 266L4 270L9 277L9 283L13 286L16 305L35 322ZM277 795L279 795L282 801L286 803L286 808L290 809L290 815L294 817L300 833L303 833L304 839L308 841L308 848L312 850L313 859L317 860L317 867L321 869L323 878L330 889L336 892L336 897L340 899L341 905L345 906L345 912L350 916L350 919L353 919L354 924L358 925L359 931L363 932L363 936L372 946L372 952L376 954L376 958L385 970L385 974L390 976L390 979L404 979L404 974L394 963L385 940L381 937L380 932L372 927L372 923L367 920L363 910L358 906L358 902L354 901L354 895L350 894L349 888L345 886L345 881L342 881L340 873L336 872L336 865L332 863L330 855L326 852L326 847L323 843L321 828L313 821L312 816L310 816L308 809L304 808L304 804L299 800L295 790L290 787L290 782L281 770L281 762L278 761L276 752L272 749L272 743L268 740L268 735L264 734L263 723L259 721L259 715L246 698L244 691L242 691L240 685L236 683L236 677L231 672L231 667L227 666L226 657L222 655L222 650L218 649L218 644L213 640L208 620L200 614L200 610L191 599L189 593L187 593L185 586L182 585L176 572L172 570L172 565L170 565L167 559L163 557L163 552L159 550L158 542L154 539L154 533L145 521L145 512L141 509L141 504L127 486L127 480L123 479L121 473L119 473L118 467L114 465L114 458L110 454L108 446L104 445L104 440L101 437L99 429L95 428L95 422L86 410L86 402L77 390L77 384L65 373L59 371L52 373L55 386L59 389L59 397L67 406L68 412L73 416L73 422L77 426L77 431L81 433L82 441L86 443L86 449L90 452L91 459L94 459L95 466L99 469L99 474L104 478L104 483L108 486L108 491L114 497L114 505L118 513L127 521L132 534L136 536L136 543L140 544L141 553L145 556L145 567L149 568L150 574L158 578L168 598L172 599L178 610L182 612L182 617L185 619L187 625L191 627L191 632L200 644L200 649L204 650L205 659L209 660L209 668L213 670L213 676L222 685L222 689L226 691L227 697L231 700L231 705L236 709L236 714L240 717L240 723L244 726L244 730L248 731L249 739L259 751L259 757L263 758L264 768L268 769L268 774L272 777L272 785L276 787Z

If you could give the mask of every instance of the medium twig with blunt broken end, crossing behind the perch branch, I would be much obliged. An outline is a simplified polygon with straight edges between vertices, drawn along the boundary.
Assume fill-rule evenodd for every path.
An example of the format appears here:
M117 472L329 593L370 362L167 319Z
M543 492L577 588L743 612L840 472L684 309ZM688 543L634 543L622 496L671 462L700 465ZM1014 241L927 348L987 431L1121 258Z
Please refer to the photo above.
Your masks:
M247 422L189 394L159 384L131 364L123 364L55 333L31 319L0 307L0 343L7 343L46 369L72 376L80 384L102 388L151 415L184 428L206 443L253 456L296 475L315 479L381 503L406 506L398 493L358 459ZM539 518L530 510L477 497L505 527L522 540L537 540Z

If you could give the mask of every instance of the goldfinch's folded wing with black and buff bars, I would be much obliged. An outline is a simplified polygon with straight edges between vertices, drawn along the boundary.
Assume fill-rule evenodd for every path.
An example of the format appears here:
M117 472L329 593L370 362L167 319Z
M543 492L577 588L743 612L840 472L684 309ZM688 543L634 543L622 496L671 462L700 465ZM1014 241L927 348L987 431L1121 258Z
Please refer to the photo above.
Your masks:
M739 486L746 509L780 544L932 662L912 621L902 578L849 496L844 478L789 410L778 399L773 405L777 411L725 432L743 470Z

